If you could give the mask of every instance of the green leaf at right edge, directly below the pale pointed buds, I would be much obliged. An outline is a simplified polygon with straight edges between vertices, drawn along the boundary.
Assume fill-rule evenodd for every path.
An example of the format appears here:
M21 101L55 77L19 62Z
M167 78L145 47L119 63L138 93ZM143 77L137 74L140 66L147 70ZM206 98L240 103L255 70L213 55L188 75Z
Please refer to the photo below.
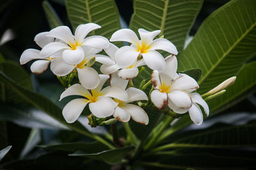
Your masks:
M211 109L210 114L219 113L234 104L239 103L248 95L256 91L256 62L246 64L236 75L236 81L231 85L225 94L207 102Z

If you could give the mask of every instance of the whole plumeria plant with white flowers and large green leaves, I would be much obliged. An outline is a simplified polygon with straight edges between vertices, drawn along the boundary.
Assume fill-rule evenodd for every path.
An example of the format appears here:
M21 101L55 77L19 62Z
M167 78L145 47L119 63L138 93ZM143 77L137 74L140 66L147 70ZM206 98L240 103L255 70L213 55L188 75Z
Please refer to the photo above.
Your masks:
M31 73L1 58L0 120L31 132L0 169L256 166L255 114L221 119L255 92L255 1L224 4L190 41L202 0L134 0L129 27L113 0L65 2L72 29L43 2L51 29L19 57ZM55 85L36 92L28 74Z

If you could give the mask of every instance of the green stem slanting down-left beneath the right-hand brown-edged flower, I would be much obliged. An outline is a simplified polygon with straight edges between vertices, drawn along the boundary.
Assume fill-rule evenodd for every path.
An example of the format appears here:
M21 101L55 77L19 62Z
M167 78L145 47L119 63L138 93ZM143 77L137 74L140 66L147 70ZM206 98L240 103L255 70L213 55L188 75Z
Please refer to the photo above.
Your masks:
M152 148L152 146L156 145L156 141L159 138L159 136L163 133L164 129L170 125L170 123L173 121L173 118L170 116L166 116L163 125L159 128L159 131L156 132L156 134L153 136L153 138L150 139L150 141L145 145L144 149L148 150Z

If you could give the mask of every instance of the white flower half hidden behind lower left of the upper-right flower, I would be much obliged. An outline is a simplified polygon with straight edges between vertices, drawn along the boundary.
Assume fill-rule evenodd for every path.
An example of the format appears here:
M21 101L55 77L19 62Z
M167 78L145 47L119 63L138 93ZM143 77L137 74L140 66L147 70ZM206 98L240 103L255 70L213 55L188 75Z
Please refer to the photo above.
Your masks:
M112 43L109 43L109 47L104 49L104 51L109 55L108 58L105 57L105 60L108 59L108 62L104 60L99 61L102 63L102 66L100 67L100 71L103 74L111 74L115 71L118 71L118 76L123 79L132 79L136 77L139 73L138 67L145 65L145 62L143 59L135 60L130 66L128 67L121 67L118 66L118 64L115 62L115 53L118 50L118 47L113 45Z

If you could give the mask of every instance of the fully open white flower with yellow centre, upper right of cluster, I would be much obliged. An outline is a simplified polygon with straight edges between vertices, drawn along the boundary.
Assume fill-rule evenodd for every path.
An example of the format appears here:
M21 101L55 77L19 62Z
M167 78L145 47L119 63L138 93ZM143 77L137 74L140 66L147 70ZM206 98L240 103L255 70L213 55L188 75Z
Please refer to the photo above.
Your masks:
M142 55L145 63L150 69L163 71L166 67L163 56L156 50L177 55L177 48L173 43L164 38L154 39L161 31L138 30L141 40L131 29L120 29L111 36L110 41L127 41L131 46L123 46L115 53L116 63L120 67L129 67L138 57ZM154 39L154 40L153 40Z

